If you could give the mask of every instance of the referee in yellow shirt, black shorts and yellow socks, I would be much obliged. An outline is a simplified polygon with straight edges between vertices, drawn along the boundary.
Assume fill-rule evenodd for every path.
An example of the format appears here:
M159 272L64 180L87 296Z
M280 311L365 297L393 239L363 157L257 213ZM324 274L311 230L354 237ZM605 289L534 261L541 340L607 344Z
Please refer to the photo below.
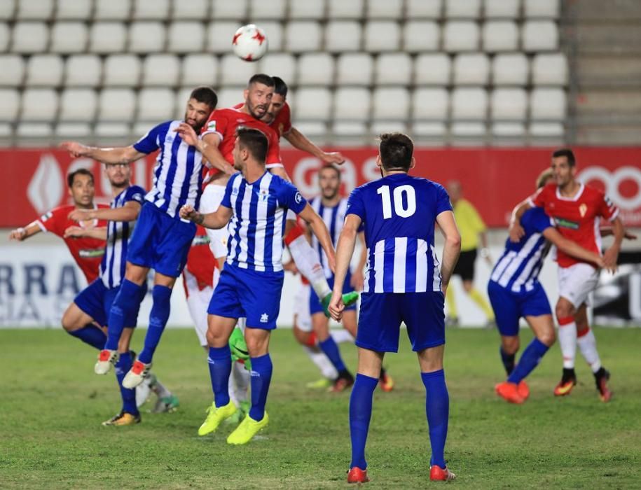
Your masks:
M468 200L463 199L461 183L450 181L448 193L454 209L454 218L461 234L461 255L459 256L453 276L460 276L463 282L463 290L469 295L478 307L483 310L487 324L494 323L494 312L490 304L485 300L481 292L474 287L474 263L478 255L478 241L481 239L481 257L488 261L492 267L492 260L488 251L488 237L485 234L487 227L479 216L476 208ZM456 309L456 298L454 288L448 288L448 325L458 325L458 311Z

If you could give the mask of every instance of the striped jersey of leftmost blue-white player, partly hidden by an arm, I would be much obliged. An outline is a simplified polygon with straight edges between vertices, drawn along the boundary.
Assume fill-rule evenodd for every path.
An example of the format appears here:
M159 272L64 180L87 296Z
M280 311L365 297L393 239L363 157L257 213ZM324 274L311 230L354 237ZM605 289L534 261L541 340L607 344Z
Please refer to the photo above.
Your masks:
M111 209L121 208L130 201L142 204L144 195L145 190L140 186L127 187L111 201ZM125 277L127 245L134 232L135 224L135 221L107 223L106 246L100 264L100 278L107 288L117 288Z

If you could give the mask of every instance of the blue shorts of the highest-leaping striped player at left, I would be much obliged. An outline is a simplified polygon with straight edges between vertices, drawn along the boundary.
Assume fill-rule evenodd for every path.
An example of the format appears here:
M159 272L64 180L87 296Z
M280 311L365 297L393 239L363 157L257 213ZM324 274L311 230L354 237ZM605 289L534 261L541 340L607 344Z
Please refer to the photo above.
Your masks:
M196 225L172 218L145 202L129 242L127 262L178 277L187 262Z

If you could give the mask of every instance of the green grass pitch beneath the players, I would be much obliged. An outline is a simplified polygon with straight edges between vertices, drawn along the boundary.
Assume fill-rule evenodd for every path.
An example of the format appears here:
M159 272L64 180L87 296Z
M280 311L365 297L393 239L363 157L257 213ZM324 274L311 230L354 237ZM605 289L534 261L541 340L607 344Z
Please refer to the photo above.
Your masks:
M135 345L142 342L142 332ZM402 337L404 337L404 332ZM448 330L450 429L446 458L460 488L641 487L641 329L597 329L612 371L612 402L598 400L579 362L579 385L555 399L554 347L530 378L525 405L493 392L502 379L497 334ZM523 334L523 344L530 339ZM174 414L107 428L119 409L113 375L92 373L95 353L59 330L0 330L0 487L2 488L342 488L350 463L348 393L306 391L315 368L289 330L272 341L270 426L245 447L229 447L226 427L196 430L211 400L202 349L191 330L167 330L156 373L181 400ZM349 365L355 348L343 344ZM368 488L429 484L425 392L404 339L386 364L397 381L377 391L367 447Z

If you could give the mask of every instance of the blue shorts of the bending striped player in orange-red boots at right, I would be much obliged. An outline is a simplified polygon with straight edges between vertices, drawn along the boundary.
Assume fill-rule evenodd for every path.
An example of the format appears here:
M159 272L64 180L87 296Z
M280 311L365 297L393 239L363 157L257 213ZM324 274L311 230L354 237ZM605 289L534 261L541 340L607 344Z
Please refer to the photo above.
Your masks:
M522 316L551 315L550 302L538 281L534 289L525 293L514 293L496 281L488 283L488 296L501 335L518 335L518 321Z

